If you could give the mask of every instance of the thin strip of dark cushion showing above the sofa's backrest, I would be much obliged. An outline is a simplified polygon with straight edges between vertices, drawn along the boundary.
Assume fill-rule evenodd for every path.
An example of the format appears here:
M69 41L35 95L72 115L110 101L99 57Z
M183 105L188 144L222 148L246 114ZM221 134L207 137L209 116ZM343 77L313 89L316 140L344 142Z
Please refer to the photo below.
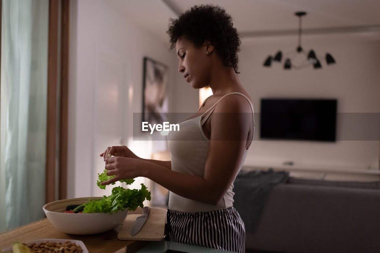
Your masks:
M338 186L350 188L366 188L366 189L380 189L380 181L374 182L357 182L357 181L331 181L331 180L313 180L313 179L298 179L289 177L287 183L294 183L299 185L321 185L321 186Z

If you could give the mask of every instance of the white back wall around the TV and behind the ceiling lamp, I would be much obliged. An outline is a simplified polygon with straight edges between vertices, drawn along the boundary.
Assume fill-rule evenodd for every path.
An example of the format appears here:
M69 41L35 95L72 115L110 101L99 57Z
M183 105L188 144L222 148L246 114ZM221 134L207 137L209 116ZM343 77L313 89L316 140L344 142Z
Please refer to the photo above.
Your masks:
M338 112L380 112L380 42L364 39L347 40L345 36L314 36L304 40L305 51L313 48L317 54L330 52L337 64L320 70L283 70L280 65L264 68L269 54L290 51L296 38L243 39L239 54L239 78L253 100L255 112L260 112L260 98L337 98ZM330 42L331 41L331 42ZM304 57L300 57L301 61ZM340 114L342 116L345 114ZM338 116L338 117L339 117ZM256 119L256 126L259 119ZM352 123L352 122L351 122ZM347 124L337 120L337 137L347 130ZM366 132L371 126L359 126ZM380 131L380 129L375 129ZM376 141L260 141L260 127L255 132L246 165L282 166L294 161L305 167L336 167L348 169L379 169L380 142Z

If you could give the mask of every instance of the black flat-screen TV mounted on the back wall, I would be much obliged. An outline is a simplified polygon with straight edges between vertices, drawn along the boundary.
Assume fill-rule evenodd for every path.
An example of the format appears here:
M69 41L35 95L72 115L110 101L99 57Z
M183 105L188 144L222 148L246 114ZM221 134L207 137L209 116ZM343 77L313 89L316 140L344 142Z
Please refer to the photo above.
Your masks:
M336 99L261 99L260 138L336 141Z

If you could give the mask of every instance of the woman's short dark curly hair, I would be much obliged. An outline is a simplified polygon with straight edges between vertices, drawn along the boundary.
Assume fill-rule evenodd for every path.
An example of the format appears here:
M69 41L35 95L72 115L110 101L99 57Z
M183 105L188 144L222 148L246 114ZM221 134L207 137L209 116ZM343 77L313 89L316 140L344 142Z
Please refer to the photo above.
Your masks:
M177 40L184 35L196 48L209 40L222 59L223 65L233 67L237 72L240 51L240 38L233 27L232 17L223 8L214 5L195 5L182 13L178 19L169 19L166 33L170 36L170 49L175 48Z

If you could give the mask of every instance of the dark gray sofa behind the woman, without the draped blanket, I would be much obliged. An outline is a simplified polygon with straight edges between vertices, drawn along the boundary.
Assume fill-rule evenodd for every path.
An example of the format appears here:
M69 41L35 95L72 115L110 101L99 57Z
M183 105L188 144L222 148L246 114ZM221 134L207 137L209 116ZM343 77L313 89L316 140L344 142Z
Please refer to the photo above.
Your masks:
M246 230L247 253L379 253L380 182L288 177Z

